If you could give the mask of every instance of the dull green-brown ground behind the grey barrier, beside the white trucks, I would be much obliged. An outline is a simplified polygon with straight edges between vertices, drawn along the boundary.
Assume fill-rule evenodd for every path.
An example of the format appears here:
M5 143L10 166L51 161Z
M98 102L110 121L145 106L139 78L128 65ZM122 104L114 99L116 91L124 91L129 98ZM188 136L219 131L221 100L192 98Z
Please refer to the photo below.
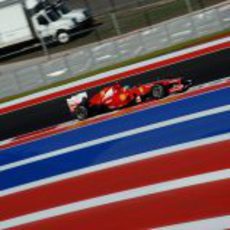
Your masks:
M70 34L71 42L65 46L47 44L41 38L36 44L29 43L26 47L11 47L1 50L0 62L20 61L33 56L54 54L60 50L70 50L82 45L99 42L119 36L143 27L151 26L178 16L186 15L195 10L203 9L224 0L83 0L81 6L89 7L95 23L87 28ZM70 1L72 8L79 7L80 1ZM100 13L99 13L100 12ZM36 52L39 49L42 52ZM19 55L22 54L22 55Z

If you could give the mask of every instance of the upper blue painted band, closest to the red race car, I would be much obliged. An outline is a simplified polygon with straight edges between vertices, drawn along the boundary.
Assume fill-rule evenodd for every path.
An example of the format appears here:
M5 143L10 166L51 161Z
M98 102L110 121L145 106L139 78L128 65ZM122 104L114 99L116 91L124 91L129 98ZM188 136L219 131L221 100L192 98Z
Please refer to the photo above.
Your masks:
M229 103L229 98L230 89L226 88L2 150L0 165L13 163L103 136L226 105Z

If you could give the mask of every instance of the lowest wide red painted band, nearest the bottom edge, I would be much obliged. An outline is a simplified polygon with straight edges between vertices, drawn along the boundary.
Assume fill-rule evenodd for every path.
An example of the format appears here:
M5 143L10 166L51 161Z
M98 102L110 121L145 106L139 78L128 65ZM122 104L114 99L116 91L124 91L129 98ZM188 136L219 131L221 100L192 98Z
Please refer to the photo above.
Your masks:
M222 180L92 208L14 229L154 229L229 215L229 194L230 180Z

